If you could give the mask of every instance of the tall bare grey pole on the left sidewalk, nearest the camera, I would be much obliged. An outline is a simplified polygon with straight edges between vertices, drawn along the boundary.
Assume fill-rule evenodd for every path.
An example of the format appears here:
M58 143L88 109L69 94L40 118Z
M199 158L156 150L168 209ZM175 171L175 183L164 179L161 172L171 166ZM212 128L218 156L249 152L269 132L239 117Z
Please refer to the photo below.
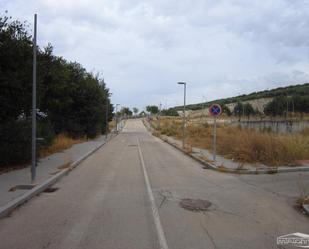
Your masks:
M33 33L33 71L32 71L32 155L31 155L31 183L35 182L36 177L36 32L37 14L34 14L34 33Z

